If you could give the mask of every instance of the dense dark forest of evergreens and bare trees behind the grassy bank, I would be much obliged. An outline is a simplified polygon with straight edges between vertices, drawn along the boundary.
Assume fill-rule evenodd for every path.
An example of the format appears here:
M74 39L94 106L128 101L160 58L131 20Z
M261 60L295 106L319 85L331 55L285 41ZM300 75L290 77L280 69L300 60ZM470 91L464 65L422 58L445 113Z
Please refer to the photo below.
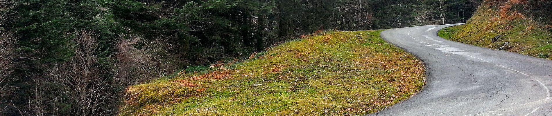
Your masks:
M116 115L127 86L321 30L463 23L480 0L0 0L0 115Z

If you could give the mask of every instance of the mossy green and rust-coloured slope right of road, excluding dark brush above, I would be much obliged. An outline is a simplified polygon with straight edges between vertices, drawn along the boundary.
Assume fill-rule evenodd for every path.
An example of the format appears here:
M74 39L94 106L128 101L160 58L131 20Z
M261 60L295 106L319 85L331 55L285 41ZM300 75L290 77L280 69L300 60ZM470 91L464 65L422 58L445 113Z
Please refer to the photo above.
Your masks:
M502 10L499 10L502 9ZM552 31L546 24L506 7L481 7L465 25L447 27L439 36L475 46L552 59ZM501 36L493 42L492 38Z

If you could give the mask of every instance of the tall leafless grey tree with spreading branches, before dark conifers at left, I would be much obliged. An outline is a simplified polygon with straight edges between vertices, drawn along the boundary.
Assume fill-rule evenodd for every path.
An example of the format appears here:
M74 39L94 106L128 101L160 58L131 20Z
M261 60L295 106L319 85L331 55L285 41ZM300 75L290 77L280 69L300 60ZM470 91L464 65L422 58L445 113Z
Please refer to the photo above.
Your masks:
M44 77L35 78L39 86L49 84L36 88L36 98L31 102L35 115L57 114L61 110L82 116L112 115L116 112L113 81L110 81L105 69L98 67L98 58L94 56L98 47L97 37L92 32L79 32L75 38L75 56L67 62L46 66ZM43 100L52 97L54 100ZM68 105L65 106L68 109L60 105Z

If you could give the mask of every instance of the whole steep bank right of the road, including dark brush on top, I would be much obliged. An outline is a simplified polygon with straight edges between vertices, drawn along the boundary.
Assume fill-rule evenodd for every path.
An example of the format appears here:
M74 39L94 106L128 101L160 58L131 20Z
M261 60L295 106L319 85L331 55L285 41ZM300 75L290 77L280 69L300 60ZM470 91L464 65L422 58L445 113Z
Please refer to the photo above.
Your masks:
M471 45L552 59L550 16L550 1L486 1L465 25L440 30L439 36Z

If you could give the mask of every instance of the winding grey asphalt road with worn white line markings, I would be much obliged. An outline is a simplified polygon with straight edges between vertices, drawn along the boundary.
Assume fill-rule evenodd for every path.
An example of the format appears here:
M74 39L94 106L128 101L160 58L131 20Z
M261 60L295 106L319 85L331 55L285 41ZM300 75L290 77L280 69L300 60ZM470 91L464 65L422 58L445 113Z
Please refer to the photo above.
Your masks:
M448 41L450 25L404 27L381 37L421 58L427 85L368 115L552 115L552 60Z

